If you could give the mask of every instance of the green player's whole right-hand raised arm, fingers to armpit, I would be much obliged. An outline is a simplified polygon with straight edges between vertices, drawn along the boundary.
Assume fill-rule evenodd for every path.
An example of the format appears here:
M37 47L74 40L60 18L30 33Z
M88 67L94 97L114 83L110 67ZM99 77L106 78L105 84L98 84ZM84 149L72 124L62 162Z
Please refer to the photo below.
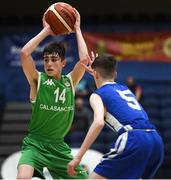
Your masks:
M75 22L75 33L77 38L77 44L78 44L78 52L79 52L79 59L80 61L75 65L73 71L71 72L71 77L73 80L73 85L76 87L76 85L79 83L81 78L83 77L85 73L85 68L81 65L81 63L87 64L87 56L88 56L88 50L87 45L84 41L83 35L81 33L80 29L80 14L75 9L75 16L76 16L76 22Z

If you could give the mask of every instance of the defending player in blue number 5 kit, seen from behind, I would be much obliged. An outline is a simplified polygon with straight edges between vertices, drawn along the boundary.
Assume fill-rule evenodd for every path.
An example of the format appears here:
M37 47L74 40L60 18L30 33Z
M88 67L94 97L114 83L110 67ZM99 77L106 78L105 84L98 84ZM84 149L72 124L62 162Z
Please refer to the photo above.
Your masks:
M94 120L78 154L68 164L70 175L76 173L75 167L105 123L119 137L90 179L150 179L163 161L163 142L148 115L128 87L114 81L116 64L112 55L102 55L96 57L91 66L85 67L97 86L90 97Z

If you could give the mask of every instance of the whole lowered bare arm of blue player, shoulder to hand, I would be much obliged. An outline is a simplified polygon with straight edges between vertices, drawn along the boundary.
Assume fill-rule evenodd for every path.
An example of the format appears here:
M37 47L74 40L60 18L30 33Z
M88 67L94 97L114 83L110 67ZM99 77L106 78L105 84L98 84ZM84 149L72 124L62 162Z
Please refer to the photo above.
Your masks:
M96 140L97 136L104 127L104 105L103 102L97 94L92 94L90 97L90 105L94 111L94 120L93 123L85 137L83 144L75 156L75 158L68 164L68 173L70 175L75 175L75 167L81 162L83 155L90 148L93 142Z

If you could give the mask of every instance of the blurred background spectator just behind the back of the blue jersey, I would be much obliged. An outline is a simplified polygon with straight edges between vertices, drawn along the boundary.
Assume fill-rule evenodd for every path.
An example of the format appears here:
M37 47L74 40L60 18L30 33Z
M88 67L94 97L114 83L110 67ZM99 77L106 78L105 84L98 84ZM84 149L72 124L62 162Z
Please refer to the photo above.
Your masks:
M128 76L126 80L128 88L135 94L137 100L140 102L142 98L142 88L140 85L135 83L135 80L132 76Z

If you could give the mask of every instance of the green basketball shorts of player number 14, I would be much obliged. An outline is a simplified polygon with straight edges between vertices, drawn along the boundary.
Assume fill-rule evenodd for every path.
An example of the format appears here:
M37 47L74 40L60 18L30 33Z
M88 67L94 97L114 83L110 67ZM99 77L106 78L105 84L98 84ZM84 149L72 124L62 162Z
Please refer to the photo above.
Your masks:
M54 179L87 179L88 174L81 166L77 166L76 176L69 176L67 164L73 159L70 147L63 139L48 140L29 134L23 140L22 155L18 166L27 164L36 169L42 176L43 169Z

